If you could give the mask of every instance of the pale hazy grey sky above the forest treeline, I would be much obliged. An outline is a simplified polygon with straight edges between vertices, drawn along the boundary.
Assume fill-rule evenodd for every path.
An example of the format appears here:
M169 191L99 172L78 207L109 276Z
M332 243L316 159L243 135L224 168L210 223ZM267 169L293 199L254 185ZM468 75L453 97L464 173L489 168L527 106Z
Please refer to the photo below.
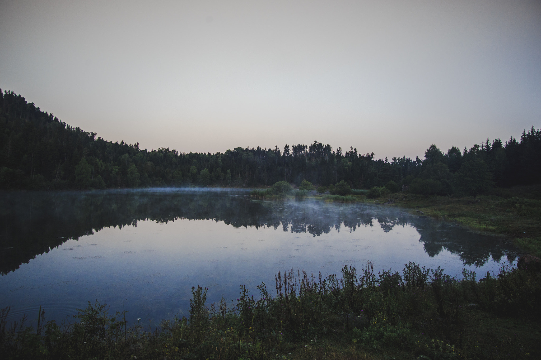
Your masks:
M541 126L541 1L0 1L0 87L107 140L376 157Z

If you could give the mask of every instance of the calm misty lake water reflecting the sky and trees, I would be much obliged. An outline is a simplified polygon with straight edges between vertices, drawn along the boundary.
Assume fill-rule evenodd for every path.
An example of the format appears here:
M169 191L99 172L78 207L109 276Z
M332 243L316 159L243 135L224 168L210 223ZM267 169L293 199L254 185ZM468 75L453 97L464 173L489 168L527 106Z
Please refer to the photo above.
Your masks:
M191 288L207 300L258 295L279 270L340 275L344 265L401 271L408 261L461 278L514 261L509 240L405 209L316 200L265 201L248 192L142 191L0 194L0 307L9 319L61 321L88 301L128 320L188 313ZM480 276L483 277L483 276Z

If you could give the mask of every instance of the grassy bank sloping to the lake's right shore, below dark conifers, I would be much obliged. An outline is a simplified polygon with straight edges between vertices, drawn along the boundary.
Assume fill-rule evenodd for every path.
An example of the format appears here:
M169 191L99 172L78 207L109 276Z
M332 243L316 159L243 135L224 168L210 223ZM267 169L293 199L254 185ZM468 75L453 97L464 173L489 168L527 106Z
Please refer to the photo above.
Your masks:
M423 196L395 193L385 198L359 201L385 203L411 209L412 214L456 221L461 225L492 234L511 236L526 253L541 256L541 186L496 188L491 193L473 198ZM417 210L424 214L418 213Z

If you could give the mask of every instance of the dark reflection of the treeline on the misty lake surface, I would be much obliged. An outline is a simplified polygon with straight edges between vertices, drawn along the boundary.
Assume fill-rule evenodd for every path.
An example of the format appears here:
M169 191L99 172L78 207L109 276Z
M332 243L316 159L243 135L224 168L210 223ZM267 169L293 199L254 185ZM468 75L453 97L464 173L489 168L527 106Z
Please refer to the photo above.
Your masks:
M238 192L235 192L239 194ZM233 193L233 194L235 194ZM69 239L78 240L103 228L137 225L138 221L223 221L236 227L270 227L315 236L332 228L353 232L379 226L414 226L426 252L447 249L465 264L482 265L490 258L514 259L512 246L502 239L474 234L465 228L407 215L395 208L364 205L326 205L319 201L254 201L229 192L107 190L93 192L0 193L0 274L19 268L36 255Z

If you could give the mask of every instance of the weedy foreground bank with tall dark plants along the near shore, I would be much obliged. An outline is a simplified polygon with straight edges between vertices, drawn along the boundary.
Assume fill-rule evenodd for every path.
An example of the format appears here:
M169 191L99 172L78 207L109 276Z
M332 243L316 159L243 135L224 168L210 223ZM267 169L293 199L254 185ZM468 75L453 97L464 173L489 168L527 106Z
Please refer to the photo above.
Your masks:
M5 359L496 359L539 358L541 275L503 269L479 282L408 263L375 273L368 262L339 278L304 271L276 275L275 290L244 286L233 303L210 307L193 288L189 318L154 331L127 326L122 313L90 305L57 325L39 314L37 328L6 326ZM275 294L275 295L274 295Z

